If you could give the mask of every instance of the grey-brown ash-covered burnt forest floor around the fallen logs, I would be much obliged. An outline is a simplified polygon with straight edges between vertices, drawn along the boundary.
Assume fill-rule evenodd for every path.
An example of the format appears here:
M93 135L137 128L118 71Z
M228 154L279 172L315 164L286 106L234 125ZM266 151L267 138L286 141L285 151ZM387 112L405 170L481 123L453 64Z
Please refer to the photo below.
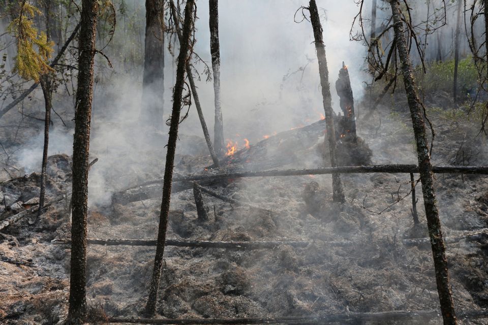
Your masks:
M437 132L434 164L486 165L488 147L483 137L476 137L476 121L467 121L465 116L449 112L428 109ZM358 132L373 152L373 164L416 163L411 122L405 112L389 113L382 107L367 121L359 114ZM185 139L190 138L182 136L180 142ZM200 153L180 153L176 158L178 173L197 172L210 165L201 139L192 139L199 143ZM309 165L314 165L311 161L320 161L321 139L312 139L299 149L307 155L297 156L306 157L306 161L295 159L289 163L285 159L286 164L279 168L299 167L300 163L311 167ZM16 145L19 143L12 142L11 148ZM316 159L310 158L313 156ZM97 164L103 166L103 153L99 157L101 163ZM134 159L134 164L137 161L124 153L119 157ZM156 170L162 169L161 161L164 160L159 160L159 165L155 164L153 170L146 170L145 174L137 168L126 170L120 174L124 176L123 185L127 187L158 178L161 171ZM13 164L15 161L10 162ZM49 199L62 200L39 218L28 216L0 234L0 254L36 265L0 262L2 323L57 324L67 316L70 250L68 245L51 244L51 240L70 236L67 213L70 158L62 154L51 156L49 166ZM121 171L113 164L107 173L117 175ZM213 190L265 210L231 206L204 195L210 216L204 222L197 220L192 190L174 193L168 228L170 239L305 240L313 244L304 248L278 246L251 251L167 247L157 317L291 316L347 310L438 309L430 248L402 244L404 238L426 235L422 198L418 195L420 185L417 186L417 206L422 225L414 229L410 196L387 208L408 194L409 175L358 174L343 175L342 179L347 199L343 207L331 203L330 175L248 178L225 186L215 185ZM311 182L316 183L311 185ZM35 173L3 182L2 196L11 211L2 205L1 219L24 209L17 202L31 200L35 203L37 184ZM485 176L438 175L436 190L446 236L488 226ZM88 237L154 239L160 200L92 206ZM385 208L381 214L376 213ZM357 244L342 247L327 244L344 240ZM154 252L154 247L90 245L87 269L90 308L108 316L139 316L146 300ZM485 240L448 245L456 310L488 308L487 253ZM440 322L436 319L429 323ZM484 324L486 320L463 320L462 323Z

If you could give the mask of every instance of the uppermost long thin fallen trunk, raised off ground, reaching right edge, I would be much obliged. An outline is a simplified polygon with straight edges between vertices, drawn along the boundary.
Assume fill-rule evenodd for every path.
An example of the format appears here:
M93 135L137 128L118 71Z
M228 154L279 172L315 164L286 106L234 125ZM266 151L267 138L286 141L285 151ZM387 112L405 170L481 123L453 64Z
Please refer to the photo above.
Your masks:
M438 174L479 174L488 175L488 166L433 166L432 171ZM234 179L242 177L274 177L274 176L303 176L324 174L355 174L355 173L418 173L416 165L371 165L371 166L344 166L314 169L289 169L260 172L215 173L211 171L206 175L189 175L173 177L173 182L208 181L217 179ZM155 182L160 182L157 180ZM146 182L148 184L148 182Z

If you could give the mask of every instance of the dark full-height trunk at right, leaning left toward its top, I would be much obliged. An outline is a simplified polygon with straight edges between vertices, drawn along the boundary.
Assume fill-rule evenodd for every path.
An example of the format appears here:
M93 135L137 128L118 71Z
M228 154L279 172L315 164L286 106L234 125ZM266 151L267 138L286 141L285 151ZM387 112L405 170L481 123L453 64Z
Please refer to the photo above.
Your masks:
M429 144L425 134L425 122L422 116L422 107L418 98L415 80L412 74L412 63L408 55L407 41L401 20L400 5L398 0L390 0L391 12L393 15L394 32L396 47L401 62L401 69L405 90L407 92L408 106L413 122L413 131L417 145L417 158L422 183L423 201L425 206L425 216L431 238L432 253L434 256L434 267L436 270L437 291L441 305L444 324L456 324L456 315L452 302L452 293L449 286L449 275L447 272L446 247L441 232L441 222L439 220L439 210L437 208L436 194L434 192L433 173L431 158L429 154Z

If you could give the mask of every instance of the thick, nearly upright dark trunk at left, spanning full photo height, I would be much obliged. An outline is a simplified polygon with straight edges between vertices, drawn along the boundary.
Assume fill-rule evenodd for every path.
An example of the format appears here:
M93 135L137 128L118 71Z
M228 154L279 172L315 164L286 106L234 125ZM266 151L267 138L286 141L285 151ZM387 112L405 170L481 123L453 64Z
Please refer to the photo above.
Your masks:
M69 322L81 324L86 312L86 216L93 66L99 2L83 0L79 35L78 90L73 141L73 194Z

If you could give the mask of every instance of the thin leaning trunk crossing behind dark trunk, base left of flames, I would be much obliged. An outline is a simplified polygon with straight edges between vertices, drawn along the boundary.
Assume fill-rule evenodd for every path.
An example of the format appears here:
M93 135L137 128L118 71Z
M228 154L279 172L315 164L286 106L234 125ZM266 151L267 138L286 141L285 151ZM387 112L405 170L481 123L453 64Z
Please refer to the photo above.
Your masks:
M169 1L170 8L171 8L171 16L174 21L174 27L176 29L176 35L178 37L178 40L181 44L181 30L179 28L179 17L178 17L178 11L174 5L173 0ZM192 68L190 65L190 62L186 63L185 67L188 75L188 81L190 82L190 88L192 90L193 94L193 100L195 101L195 107L197 108L197 113L198 113L198 118L200 119L200 124L202 125L202 130L203 130L203 136L205 138L205 142L207 143L208 151L210 152L210 156L212 157L212 161L214 161L214 167L219 167L219 158L217 157L217 153L215 152L214 145L212 144L212 141L210 140L210 135L208 133L208 128L207 128L207 123L205 122L205 118L203 116L203 111L202 107L200 105L200 100L198 98L198 92L197 92L197 87L195 86L195 80L193 79L193 73L192 73Z

